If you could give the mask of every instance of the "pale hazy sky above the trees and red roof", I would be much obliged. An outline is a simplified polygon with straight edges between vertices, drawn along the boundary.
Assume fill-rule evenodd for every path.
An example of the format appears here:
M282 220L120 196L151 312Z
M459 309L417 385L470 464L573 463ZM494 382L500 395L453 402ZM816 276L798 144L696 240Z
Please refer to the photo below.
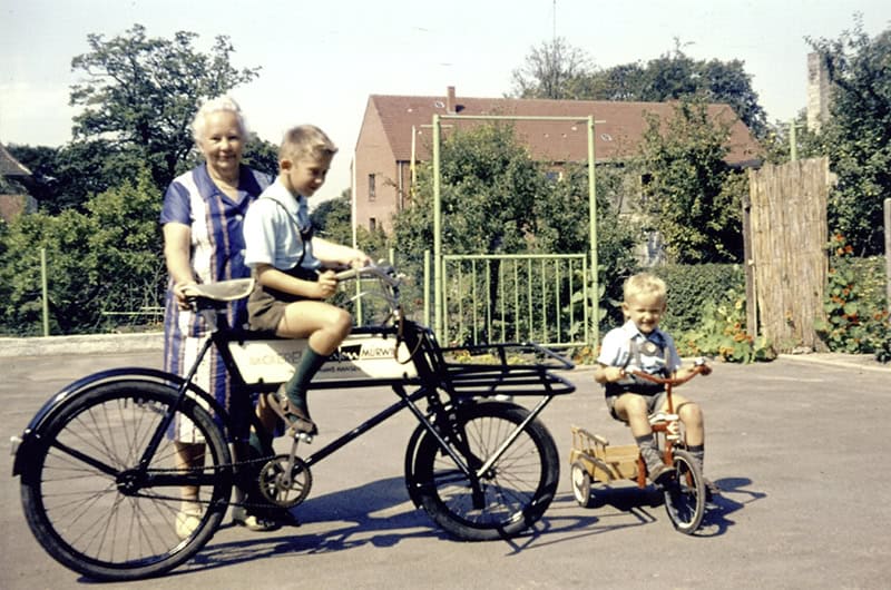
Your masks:
M501 97L555 36L604 69L679 42L696 60L742 60L768 120L786 121L806 104L805 37L836 39L855 12L870 36L891 27L888 0L0 0L0 142L71 139L71 59L90 33L190 31L202 52L225 35L234 67L262 68L232 91L258 137L312 122L340 146L324 200L350 187L370 95Z

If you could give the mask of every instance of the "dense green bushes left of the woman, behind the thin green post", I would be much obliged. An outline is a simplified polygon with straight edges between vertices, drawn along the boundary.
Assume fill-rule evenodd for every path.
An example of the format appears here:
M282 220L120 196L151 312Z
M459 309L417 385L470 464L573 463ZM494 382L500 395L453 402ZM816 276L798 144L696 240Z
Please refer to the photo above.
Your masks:
M0 250L0 311L9 333L36 335L41 324L40 250L46 249L50 330L94 332L112 321L102 312L160 302L164 279L160 195L149 174L136 184L91 198L86 213L22 215L10 224Z

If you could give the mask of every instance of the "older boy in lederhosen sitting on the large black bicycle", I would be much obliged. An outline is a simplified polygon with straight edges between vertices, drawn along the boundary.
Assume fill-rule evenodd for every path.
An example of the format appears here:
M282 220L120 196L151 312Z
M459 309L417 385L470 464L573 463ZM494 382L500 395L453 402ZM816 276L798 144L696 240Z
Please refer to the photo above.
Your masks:
M278 391L261 396L258 414L267 433L275 415L296 433L316 434L306 390L316 372L352 328L352 316L324 299L334 295L334 271L323 266L364 266L362 250L313 236L307 204L325 181L337 148L317 127L290 129L278 150L278 177L244 218L245 264L257 285L247 302L252 330L286 338L306 338L294 375Z

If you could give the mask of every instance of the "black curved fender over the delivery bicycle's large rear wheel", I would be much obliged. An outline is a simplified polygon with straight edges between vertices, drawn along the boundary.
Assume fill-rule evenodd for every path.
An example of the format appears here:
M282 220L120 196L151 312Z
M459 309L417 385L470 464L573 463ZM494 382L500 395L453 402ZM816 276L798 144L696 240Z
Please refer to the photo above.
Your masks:
M157 368L146 368L146 367L120 367L120 368L110 368L107 371L100 371L98 373L92 373L85 377L81 377L72 383L69 383L59 392L53 394L41 407L37 411L33 417L30 420L28 425L25 427L19 441L17 441L17 446L14 449L16 458L12 462L12 475L21 475L26 465L27 461L30 459L32 454L32 449L35 449L41 441L41 433L46 425L51 422L51 420L61 411L66 405L68 405L72 400L76 400L80 395L86 394L87 392L91 391L94 387L101 385L104 383L114 382L114 381L121 381L121 380L136 380L136 381L149 381L154 383L165 383L172 390L176 390L179 387L185 380L178 375L174 375L173 373L167 373L164 371L159 371ZM189 383L187 385L187 390L195 396L200 397L204 402L209 404L215 412L219 416L226 416L226 413L219 406L217 401L208 395L204 390L195 385L194 383ZM231 429L231 424L228 423L228 417L225 417L226 427Z

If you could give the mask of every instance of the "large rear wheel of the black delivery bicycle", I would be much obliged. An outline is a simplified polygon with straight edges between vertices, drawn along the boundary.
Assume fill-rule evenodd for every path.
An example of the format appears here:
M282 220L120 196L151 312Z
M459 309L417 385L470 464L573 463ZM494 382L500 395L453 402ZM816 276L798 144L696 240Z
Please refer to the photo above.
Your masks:
M178 411L204 435L204 472L216 473L212 485L199 488L197 525L185 538L177 532L182 484L175 478L185 472L176 470L166 434L148 469L174 479L136 494L121 490L121 474L138 464L176 400L161 383L105 383L74 397L41 430L21 499L31 532L53 559L96 580L135 580L172 570L210 539L227 508L232 460L218 426L194 399L184 399Z

